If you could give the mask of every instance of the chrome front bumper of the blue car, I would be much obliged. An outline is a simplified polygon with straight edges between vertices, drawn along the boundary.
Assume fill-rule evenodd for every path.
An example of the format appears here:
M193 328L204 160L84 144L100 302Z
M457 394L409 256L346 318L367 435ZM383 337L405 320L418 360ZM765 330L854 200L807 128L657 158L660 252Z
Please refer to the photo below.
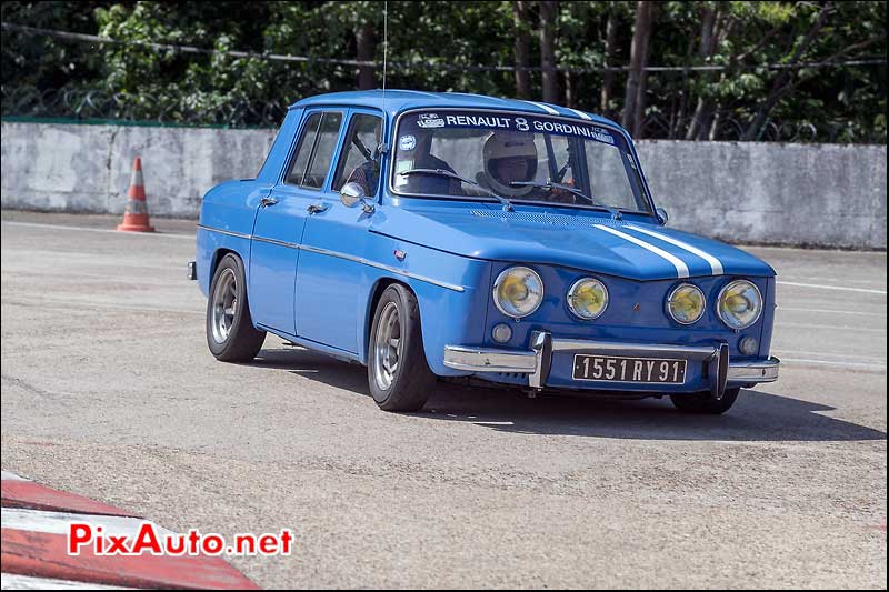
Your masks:
M548 385L553 360L560 354L599 354L623 355L638 358L681 358L689 363L699 362L699 380L690 381L689 389L701 390L705 387L713 397L721 398L728 387L745 387L759 382L773 382L778 380L780 361L777 358L756 361L731 362L729 349L725 343L713 345L671 345L661 343L627 343L615 341L591 341L579 339L559 339L546 331L535 331L531 334L531 349L499 350L490 348L475 348L467 345L446 345L444 365L455 370L462 370L486 374L527 374L528 387L542 389ZM565 380L562 380L565 382ZM697 387L696 387L697 384ZM563 387L565 384L558 384ZM599 384L575 383L572 387L583 389L609 389L615 385L602 382ZM659 384L646 384L646 388L659 389ZM620 385L617 385L620 389ZM687 389L688 390L688 389Z

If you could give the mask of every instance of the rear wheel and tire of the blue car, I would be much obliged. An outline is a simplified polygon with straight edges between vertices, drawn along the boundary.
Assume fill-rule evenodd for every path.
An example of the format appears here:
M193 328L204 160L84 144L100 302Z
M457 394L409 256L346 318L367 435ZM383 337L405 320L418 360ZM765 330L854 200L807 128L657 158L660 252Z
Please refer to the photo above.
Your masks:
M229 253L217 265L210 282L207 345L223 362L250 361L266 341L266 332L256 329L250 318L244 278L243 263Z

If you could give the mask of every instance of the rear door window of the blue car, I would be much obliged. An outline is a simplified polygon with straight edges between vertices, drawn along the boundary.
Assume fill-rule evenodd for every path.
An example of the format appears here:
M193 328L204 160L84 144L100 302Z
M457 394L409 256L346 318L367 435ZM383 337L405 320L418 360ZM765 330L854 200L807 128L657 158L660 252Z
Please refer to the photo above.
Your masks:
M287 183L321 189L333 162L333 150L340 134L342 113L312 113L306 121L297 153L290 164Z

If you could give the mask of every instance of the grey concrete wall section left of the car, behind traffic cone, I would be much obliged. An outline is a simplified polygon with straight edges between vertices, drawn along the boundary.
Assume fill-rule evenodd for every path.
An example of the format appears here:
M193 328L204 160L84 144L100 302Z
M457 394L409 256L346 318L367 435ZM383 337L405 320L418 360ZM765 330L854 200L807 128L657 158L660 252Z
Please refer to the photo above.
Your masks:
M132 161L152 215L197 218L207 190L256 177L273 130L2 123L2 207L122 213Z

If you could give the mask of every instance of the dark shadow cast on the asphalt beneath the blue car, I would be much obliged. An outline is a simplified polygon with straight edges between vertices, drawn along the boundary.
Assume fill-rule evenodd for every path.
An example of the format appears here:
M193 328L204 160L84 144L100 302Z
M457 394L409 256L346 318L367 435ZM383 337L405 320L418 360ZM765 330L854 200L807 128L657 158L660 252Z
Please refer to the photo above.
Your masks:
M267 349L249 364L370 398L364 367L309 350ZM500 432L630 440L886 440L883 431L822 414L835 410L792 397L743 390L726 414L692 415L677 411L666 397L599 399L545 391L531 399L516 389L440 382L423 411L411 415L469 422Z

